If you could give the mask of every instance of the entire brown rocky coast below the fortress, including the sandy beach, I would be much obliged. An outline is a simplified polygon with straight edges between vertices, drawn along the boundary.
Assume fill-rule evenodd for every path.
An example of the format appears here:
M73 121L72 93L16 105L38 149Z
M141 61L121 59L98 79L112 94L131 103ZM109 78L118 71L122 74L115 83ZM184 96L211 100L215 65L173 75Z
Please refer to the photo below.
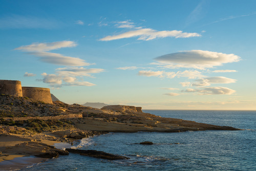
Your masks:
M67 117L63 117L63 115ZM28 117L27 120L26 117ZM38 119L40 117L47 119L40 120ZM163 118L144 113L140 107L135 106L109 105L102 109L95 109L60 101L49 104L26 97L0 95L0 165L1 161L10 161L15 157L32 155L52 158L68 155L69 152L77 151L73 149L69 149L69 152L63 151L56 149L53 145L59 142L67 142L72 145L73 141L106 132L204 130L235 131L239 129L182 119ZM92 157L104 154L104 152L92 152L79 153L89 156L91 154ZM112 154L104 155L111 158Z

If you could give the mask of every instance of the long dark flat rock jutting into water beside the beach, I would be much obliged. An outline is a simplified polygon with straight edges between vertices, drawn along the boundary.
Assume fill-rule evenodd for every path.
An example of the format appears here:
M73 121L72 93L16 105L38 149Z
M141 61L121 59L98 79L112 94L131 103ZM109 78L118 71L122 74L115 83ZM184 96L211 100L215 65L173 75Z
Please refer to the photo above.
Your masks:
M96 151L96 150L82 150L82 149L66 148L66 151L68 151L70 153L77 153L82 156L90 156L90 157L108 159L108 160L130 159L125 156L113 155L110 153L105 153L105 152Z

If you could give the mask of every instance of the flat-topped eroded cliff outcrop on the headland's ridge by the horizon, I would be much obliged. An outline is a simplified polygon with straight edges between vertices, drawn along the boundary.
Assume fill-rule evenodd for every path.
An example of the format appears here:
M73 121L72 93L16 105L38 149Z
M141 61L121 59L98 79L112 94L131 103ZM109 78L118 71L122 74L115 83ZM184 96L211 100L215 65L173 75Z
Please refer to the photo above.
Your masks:
M142 112L141 107L131 105L108 105L101 108L102 110L110 110L114 112Z

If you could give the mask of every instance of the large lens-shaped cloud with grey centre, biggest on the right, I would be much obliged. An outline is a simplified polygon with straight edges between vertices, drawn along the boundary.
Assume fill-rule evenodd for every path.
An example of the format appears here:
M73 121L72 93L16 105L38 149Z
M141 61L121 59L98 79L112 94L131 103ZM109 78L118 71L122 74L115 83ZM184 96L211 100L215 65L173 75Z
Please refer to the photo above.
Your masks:
M222 66L223 63L237 62L240 57L234 54L224 54L211 51L191 50L170 53L155 58L165 68L195 68L204 70Z

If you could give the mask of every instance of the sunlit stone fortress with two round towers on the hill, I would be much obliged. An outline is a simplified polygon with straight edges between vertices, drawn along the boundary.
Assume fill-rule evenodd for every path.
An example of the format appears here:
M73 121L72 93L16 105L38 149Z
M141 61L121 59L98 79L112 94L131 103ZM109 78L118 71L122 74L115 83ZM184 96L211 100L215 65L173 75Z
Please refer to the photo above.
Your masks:
M28 97L45 103L53 103L50 89L22 87L22 82L18 80L0 80L0 94Z

